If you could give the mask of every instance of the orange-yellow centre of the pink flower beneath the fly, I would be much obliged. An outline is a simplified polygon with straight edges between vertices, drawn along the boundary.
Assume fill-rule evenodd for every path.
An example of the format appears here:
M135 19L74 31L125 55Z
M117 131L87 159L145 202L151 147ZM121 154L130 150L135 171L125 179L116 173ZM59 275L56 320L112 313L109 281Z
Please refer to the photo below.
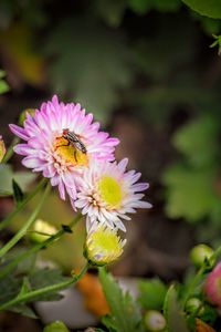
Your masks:
M62 159L73 166L87 166L87 155L76 148L74 144L70 143L65 137L56 137L54 142L54 149Z

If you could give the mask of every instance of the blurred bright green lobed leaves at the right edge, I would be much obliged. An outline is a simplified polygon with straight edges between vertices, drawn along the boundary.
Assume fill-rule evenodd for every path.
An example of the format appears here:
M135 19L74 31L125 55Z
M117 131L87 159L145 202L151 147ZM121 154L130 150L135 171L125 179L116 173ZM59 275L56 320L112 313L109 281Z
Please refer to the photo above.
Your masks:
M180 162L170 165L162 177L168 216L191 222L209 218L215 232L221 218L219 137L220 122L214 115L201 115L179 128L172 141Z

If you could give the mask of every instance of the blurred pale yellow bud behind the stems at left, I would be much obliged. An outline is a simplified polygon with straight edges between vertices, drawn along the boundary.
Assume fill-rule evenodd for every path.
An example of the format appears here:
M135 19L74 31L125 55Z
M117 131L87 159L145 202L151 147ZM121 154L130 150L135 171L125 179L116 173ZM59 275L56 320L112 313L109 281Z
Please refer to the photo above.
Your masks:
M34 242L43 242L56 232L56 227L42 219L38 219L33 225L30 238Z

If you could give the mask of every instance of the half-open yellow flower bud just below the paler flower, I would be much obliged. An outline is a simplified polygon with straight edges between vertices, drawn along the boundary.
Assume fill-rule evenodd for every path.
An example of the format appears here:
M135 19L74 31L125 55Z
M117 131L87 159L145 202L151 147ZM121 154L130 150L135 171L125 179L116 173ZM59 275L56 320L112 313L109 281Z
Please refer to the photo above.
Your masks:
M116 230L94 224L86 238L84 256L90 263L102 267L118 259L125 243Z

